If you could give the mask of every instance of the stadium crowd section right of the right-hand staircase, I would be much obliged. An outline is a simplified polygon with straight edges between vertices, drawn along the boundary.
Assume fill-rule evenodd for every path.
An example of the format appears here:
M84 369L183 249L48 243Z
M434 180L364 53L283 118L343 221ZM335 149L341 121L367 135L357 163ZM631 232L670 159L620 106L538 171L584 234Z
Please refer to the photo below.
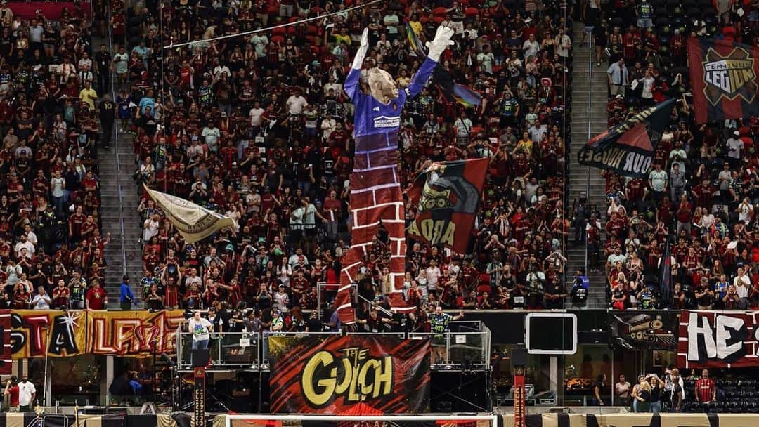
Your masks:
M575 223L587 230L577 233L590 268L606 272L614 309L759 306L759 118L694 124L685 57L692 36L756 46L755 3L728 3L718 14L708 1L612 2L585 20L597 66L608 67L609 127L676 99L647 178L601 171L607 205ZM660 289L659 275L668 239L671 290Z

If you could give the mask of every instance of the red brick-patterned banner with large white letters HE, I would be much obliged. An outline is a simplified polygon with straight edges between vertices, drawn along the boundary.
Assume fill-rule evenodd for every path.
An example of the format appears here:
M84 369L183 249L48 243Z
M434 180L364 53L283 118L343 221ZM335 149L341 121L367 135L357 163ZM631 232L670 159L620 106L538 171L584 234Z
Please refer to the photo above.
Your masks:
M759 366L759 311L688 311L680 314L680 368Z

